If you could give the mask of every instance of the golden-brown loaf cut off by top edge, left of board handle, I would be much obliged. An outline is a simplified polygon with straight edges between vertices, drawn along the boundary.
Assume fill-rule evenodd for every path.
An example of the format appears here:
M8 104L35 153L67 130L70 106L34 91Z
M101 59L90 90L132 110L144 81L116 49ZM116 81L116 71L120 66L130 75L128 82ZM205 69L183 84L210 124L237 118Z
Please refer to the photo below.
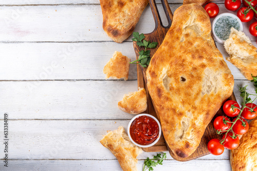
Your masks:
M103 30L116 42L127 39L148 5L148 0L100 0Z

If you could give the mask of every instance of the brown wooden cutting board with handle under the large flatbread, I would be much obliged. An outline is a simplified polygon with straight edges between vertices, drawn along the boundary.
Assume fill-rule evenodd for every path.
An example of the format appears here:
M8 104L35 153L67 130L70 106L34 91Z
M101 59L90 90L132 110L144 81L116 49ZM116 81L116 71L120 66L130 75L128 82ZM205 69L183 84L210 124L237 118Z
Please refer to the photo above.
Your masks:
M168 23L169 23L169 25L167 27L163 27L162 23L161 23L161 20L160 20L160 16L159 16L158 10L157 10L157 7L156 7L156 4L155 4L155 1L154 0L150 0L149 2L150 2L152 13L153 13L153 16L154 16L154 19L155 19L155 29L154 29L154 31L152 33L144 34L144 35L145 35L145 40L151 41L151 42L152 41L158 42L158 45L157 45L157 47L155 49L150 49L151 50L151 56L153 56L154 53L159 48L159 46L161 45L162 40L164 39L166 33L168 32L168 30L169 30L169 28L171 26L171 23L172 23L172 12L170 10L170 7L169 7L169 4L168 4L167 0L161 0L163 9L164 9L164 11L166 13L166 16L168 18ZM138 52L143 50L143 48L139 48L136 45L136 42L133 43L133 46L134 46L135 53L136 53L136 56L137 56L137 59L138 59L138 56L139 56ZM147 95L148 108L143 113L148 113L150 115L153 115L156 118L158 118L158 120L160 120L158 112L155 109L155 105L152 102L152 99L151 99L150 94L148 92L148 88L146 86L146 82L147 82L146 76L145 76L146 69L147 68L142 68L140 65L137 65L138 87L144 88L145 91L146 91L146 95ZM230 96L230 98L228 100L235 100L236 101L234 93L232 93L232 95ZM208 148L207 148L208 142L211 139L213 139L213 138L218 138L218 139L222 138L222 135L217 135L216 134L216 131L215 131L214 127L213 127L213 120L217 116L221 116L221 115L225 115L225 113L223 112L222 108L218 110L218 112L216 113L216 115L214 116L212 121L207 126L207 128L205 130L205 133L204 133L204 136L201 138L201 142L200 142L198 148L196 149L196 151L191 156L189 156L187 158L176 157L172 153L172 151L169 149L169 147L167 147L163 135L161 135L159 141L155 145L153 145L151 147L148 147L148 148L143 148L143 151L144 152L164 152L164 151L169 151L170 155L175 160L178 160L178 161L188 161L188 160L193 160L193 159L196 159L196 158L208 155L208 154L210 154L209 151L208 151Z

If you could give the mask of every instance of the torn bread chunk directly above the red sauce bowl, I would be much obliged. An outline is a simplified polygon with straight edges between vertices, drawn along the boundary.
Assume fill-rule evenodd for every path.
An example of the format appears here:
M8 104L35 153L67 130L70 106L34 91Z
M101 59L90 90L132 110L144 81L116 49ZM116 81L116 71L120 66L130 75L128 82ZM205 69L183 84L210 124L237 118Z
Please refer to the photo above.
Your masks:
M144 88L138 88L137 92L128 93L118 102L118 108L129 114L139 114L146 110L146 93Z

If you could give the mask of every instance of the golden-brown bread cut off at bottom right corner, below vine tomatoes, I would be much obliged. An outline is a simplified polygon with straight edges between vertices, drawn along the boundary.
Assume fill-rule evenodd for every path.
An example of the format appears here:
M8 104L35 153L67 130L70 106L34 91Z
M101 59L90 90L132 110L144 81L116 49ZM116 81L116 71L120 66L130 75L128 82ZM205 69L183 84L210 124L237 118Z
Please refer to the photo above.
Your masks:
M239 146L230 151L230 164L232 171L257 170L257 118L249 123Z

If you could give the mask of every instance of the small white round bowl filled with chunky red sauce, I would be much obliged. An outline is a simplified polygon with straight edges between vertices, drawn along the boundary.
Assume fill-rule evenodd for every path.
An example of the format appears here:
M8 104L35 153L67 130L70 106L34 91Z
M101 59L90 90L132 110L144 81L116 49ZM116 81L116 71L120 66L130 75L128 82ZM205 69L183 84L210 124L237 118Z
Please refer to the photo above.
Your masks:
M127 135L137 146L153 146L161 136L160 122L152 115L139 114L128 123Z

